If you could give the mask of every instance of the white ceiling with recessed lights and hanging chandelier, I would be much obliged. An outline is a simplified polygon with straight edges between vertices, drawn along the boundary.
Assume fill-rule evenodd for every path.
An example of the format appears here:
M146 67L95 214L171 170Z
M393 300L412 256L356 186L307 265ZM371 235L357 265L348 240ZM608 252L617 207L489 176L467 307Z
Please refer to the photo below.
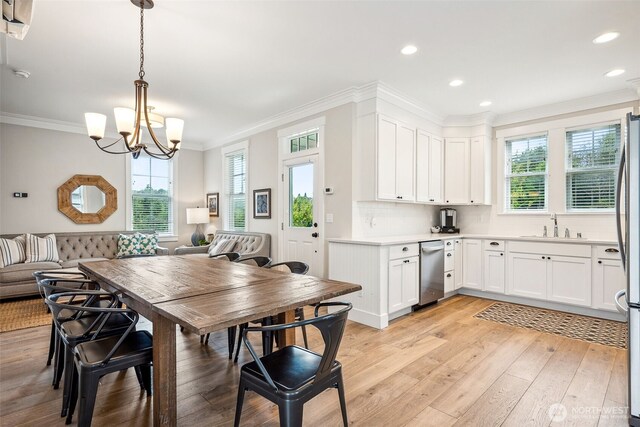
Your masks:
M139 9L34 3L25 40L4 45L2 112L82 125L95 111L115 128L112 108L133 103ZM185 148L372 81L442 116L503 114L629 88L639 22L640 1L156 0L145 79L156 112L185 119ZM605 31L621 36L594 45ZM411 57L399 52L408 43ZM603 76L614 68L626 73ZM493 105L479 107L485 99Z

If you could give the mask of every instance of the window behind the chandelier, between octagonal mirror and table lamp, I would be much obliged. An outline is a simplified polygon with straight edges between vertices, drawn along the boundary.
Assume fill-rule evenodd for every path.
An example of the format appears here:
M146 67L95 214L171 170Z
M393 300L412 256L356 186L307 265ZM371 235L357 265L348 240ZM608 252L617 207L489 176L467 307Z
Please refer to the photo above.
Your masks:
M173 160L131 159L131 229L175 233Z

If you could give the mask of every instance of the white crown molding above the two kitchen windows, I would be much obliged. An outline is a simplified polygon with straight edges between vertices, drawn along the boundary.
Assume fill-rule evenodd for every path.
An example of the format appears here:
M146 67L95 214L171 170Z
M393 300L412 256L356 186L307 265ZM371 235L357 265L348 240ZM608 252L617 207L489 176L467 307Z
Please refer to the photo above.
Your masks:
M577 111L589 110L592 108L606 107L608 105L622 104L624 102L633 102L637 101L639 98L640 94L636 93L633 89L622 89L614 92L600 93L584 98L577 98L555 104L529 108L526 110L514 111L512 113L500 114L495 118L493 126L498 127L511 125L514 123L522 123L546 117L575 113Z

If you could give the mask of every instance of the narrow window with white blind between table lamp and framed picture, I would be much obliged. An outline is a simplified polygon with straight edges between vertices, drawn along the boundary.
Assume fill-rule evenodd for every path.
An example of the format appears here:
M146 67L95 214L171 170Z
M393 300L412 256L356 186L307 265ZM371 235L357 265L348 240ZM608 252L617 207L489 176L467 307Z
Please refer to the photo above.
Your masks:
M234 151L225 156L225 195L227 201L227 229L244 231L247 217L247 158L246 151Z

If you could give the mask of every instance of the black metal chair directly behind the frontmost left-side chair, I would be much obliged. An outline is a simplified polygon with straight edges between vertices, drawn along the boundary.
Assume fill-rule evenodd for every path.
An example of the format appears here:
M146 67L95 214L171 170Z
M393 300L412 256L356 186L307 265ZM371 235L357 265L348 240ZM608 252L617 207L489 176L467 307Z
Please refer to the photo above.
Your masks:
M62 409L60 416L64 417L68 413L71 385L73 378L73 349L80 343L122 333L128 327L126 316L99 316L95 310L110 309L119 304L118 297L114 294L103 291L77 291L62 289L57 285L48 283L49 279L43 280L38 286L48 294L45 302L51 309L53 319L56 324L58 342L58 356L56 358L56 372L54 388L58 388L60 379L64 374L64 387L62 397ZM64 297L63 303L58 299ZM78 304L78 300L83 301ZM101 301L108 302L106 307L100 307ZM138 381L142 386L140 372L136 372Z

